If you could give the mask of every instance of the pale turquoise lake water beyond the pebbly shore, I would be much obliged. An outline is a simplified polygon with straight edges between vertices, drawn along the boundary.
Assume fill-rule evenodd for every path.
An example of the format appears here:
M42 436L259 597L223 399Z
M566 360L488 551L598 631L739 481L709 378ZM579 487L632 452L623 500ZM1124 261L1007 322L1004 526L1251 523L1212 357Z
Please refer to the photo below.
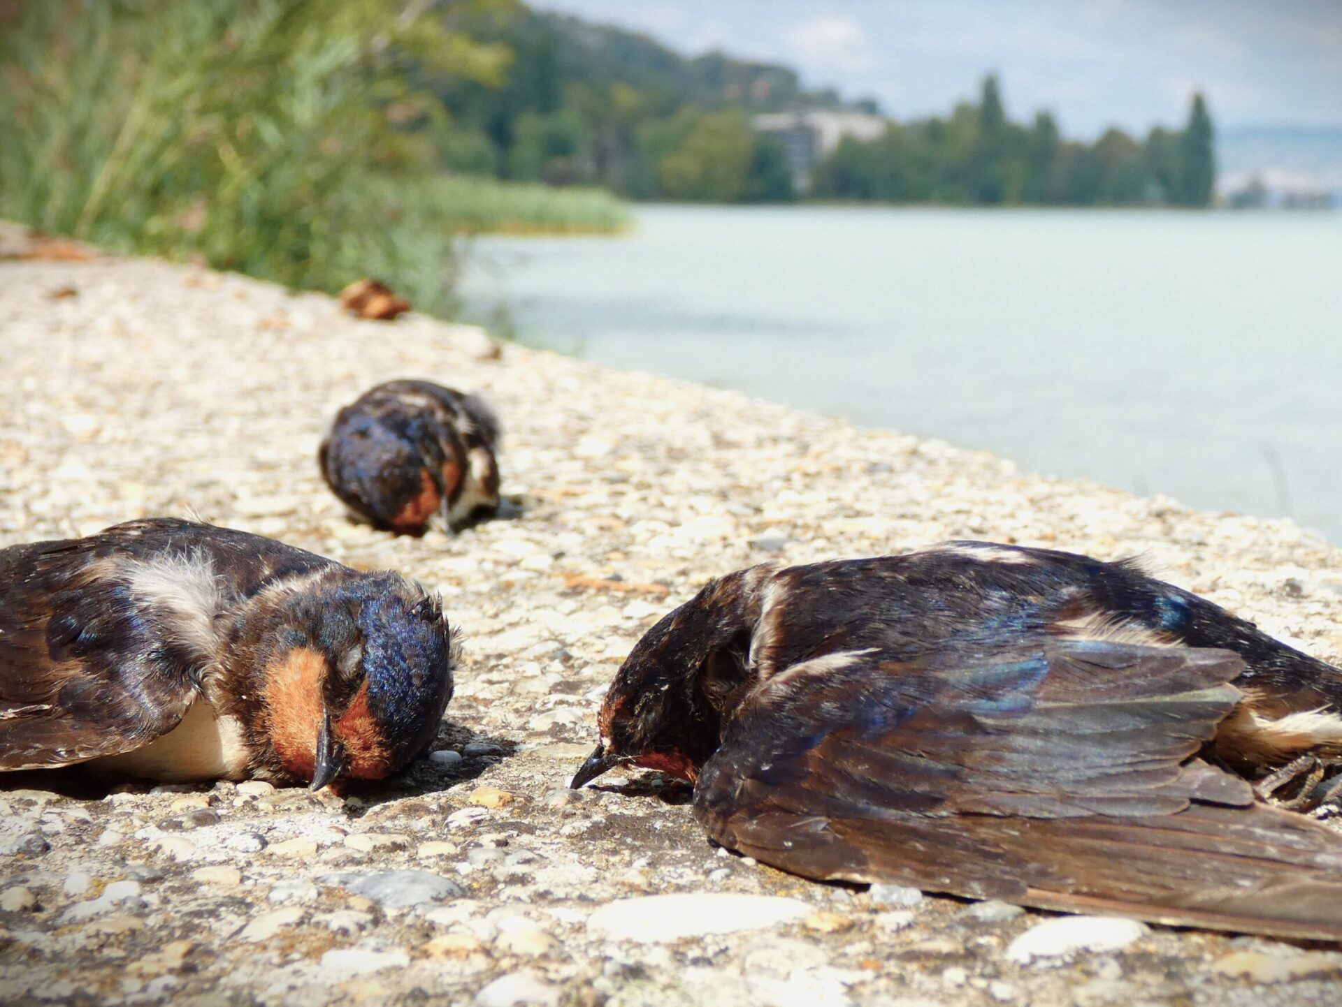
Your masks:
M525 342L1342 543L1342 213L647 206L474 243Z

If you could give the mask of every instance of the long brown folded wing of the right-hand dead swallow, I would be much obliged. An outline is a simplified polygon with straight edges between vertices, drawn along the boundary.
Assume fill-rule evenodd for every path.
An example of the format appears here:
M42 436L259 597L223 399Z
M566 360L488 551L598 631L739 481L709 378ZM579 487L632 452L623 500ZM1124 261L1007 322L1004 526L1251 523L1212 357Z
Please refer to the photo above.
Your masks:
M788 669L695 790L710 835L813 878L1342 939L1342 837L1196 758L1243 668L1092 641Z

